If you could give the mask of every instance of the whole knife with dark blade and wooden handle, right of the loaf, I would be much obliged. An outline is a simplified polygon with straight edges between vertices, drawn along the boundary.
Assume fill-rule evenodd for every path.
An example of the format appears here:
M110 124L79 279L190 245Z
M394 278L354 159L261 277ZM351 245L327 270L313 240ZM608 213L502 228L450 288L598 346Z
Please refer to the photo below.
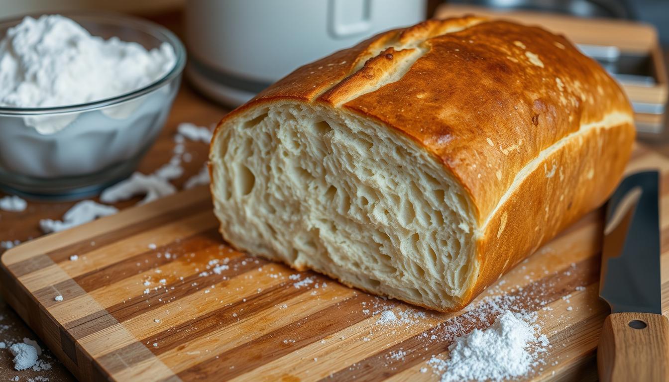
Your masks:
M658 171L632 174L606 206L599 297L609 303L601 381L669 381L669 322L660 294Z

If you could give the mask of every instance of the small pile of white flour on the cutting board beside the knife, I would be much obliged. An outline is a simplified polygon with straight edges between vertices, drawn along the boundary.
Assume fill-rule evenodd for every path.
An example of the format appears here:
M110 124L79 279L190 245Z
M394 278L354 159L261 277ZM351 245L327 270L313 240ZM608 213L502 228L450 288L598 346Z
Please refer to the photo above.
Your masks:
M537 354L546 351L548 339L537 335L539 327L521 314L506 310L489 328L474 329L456 338L448 347L446 361L429 361L442 373L442 382L503 381L525 375L535 365Z

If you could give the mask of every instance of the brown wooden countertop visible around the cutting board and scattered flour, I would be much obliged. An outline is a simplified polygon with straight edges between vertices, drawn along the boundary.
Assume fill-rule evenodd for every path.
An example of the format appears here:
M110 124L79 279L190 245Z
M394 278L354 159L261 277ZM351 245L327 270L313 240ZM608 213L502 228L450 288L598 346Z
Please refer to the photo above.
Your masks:
M183 35L181 25L181 12L161 14L159 16L149 16L163 25L166 25L178 35ZM665 51L666 57L669 57L669 50ZM669 60L668 60L669 63ZM177 125L180 122L193 122L200 126L209 126L215 124L229 108L219 106L203 98L182 80L181 89L171 110L167 124L163 132L157 139L155 145L140 163L138 171L142 173L152 173L167 163L172 155L174 146L173 135L176 132ZM667 134L664 134L666 137ZM654 142L644 142L647 145L669 157L669 142L666 138L656 139ZM184 175L173 181L177 189L181 189L186 179L195 175L202 167L207 158L207 146L200 142L185 142L187 152L193 155L191 163L182 163ZM0 193L0 197L4 196ZM129 201L116 203L116 207L124 209L134 205L141 198L136 197ZM20 240L25 242L32 238L40 236L40 219L61 219L63 213L67 211L74 202L68 203L39 203L29 201L27 209L23 212L12 213L0 211L0 240ZM0 254L3 250L0 250ZM0 300L0 341L21 342L23 337L37 340L35 334L26 326L26 324L15 314L15 312L3 301ZM47 349L44 349L47 361L52 364L52 369L47 371L15 371L13 367L11 353L8 350L0 351L0 381L9 381L9 379L19 376L19 381L27 381L29 378L37 376L46 377L50 382L74 381L74 377L69 371L61 365ZM48 357L52 357L51 360Z

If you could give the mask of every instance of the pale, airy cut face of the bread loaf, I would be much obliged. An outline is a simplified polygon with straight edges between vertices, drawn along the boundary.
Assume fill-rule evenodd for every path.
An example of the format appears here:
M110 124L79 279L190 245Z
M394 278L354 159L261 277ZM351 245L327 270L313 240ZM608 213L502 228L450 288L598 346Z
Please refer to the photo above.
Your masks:
M303 102L242 114L211 148L225 239L345 284L450 310L470 287L468 194L393 130Z

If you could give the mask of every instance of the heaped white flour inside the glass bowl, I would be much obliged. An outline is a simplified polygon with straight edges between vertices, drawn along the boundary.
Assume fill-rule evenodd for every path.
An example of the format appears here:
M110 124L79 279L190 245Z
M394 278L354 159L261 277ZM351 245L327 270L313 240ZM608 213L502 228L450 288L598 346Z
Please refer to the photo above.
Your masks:
M0 106L68 106L112 98L159 80L175 63L169 43L147 51L117 37L92 36L60 15L25 17L0 41ZM30 125L52 134L72 119L49 118L48 123L34 118Z

